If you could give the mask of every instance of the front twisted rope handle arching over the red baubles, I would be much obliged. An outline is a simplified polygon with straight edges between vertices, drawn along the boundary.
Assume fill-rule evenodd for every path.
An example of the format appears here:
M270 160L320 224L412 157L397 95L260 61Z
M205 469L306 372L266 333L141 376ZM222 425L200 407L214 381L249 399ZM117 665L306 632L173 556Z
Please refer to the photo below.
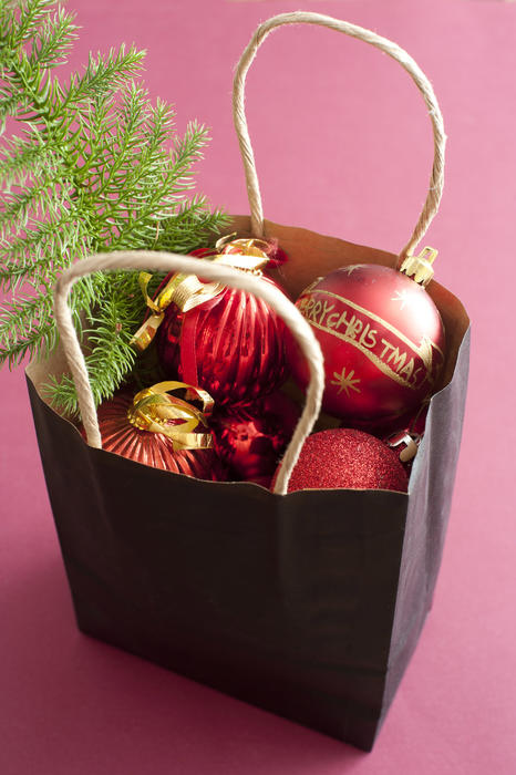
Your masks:
M322 391L324 389L324 371L322 353L310 324L299 310L287 299L276 286L264 282L258 277L239 271L223 264L214 264L199 258L188 258L171 252L153 252L149 250L128 250L99 254L81 259L72 265L59 278L54 290L54 314L61 337L63 351L78 392L79 410L90 446L102 450L101 432L96 417L95 403L87 376L86 363L79 344L72 312L68 297L74 283L86 275L95 271L112 271L114 269L148 269L151 271L180 272L184 275L202 275L207 280L216 280L225 286L248 291L264 299L290 328L297 339L310 368L310 383L301 417L293 432L287 452L281 461L281 467L276 479L275 493L287 493L290 474L296 465L306 437L311 432L319 416Z

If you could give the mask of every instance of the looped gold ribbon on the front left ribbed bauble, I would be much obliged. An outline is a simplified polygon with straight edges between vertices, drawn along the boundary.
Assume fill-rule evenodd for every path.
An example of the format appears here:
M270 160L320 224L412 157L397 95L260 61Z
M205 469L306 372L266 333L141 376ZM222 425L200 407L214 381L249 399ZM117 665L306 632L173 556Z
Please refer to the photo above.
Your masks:
M171 391L186 390L185 397L200 400L203 410L187 401L169 395ZM133 399L127 410L127 418L141 431L162 433L172 440L174 452L180 450L209 450L213 436L209 430L196 431L198 425L208 428L207 416L211 414L214 400L205 390L193 388L184 382L158 382L145 388Z

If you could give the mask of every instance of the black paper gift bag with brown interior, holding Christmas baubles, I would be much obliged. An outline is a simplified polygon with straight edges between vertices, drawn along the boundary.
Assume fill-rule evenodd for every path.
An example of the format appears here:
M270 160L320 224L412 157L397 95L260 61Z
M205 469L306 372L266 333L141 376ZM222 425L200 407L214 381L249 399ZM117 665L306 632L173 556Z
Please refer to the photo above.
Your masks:
M289 257L279 279L292 297L334 268L396 261L256 217L234 226L246 236L257 223ZM81 630L371 750L432 603L464 413L467 316L437 282L427 291L446 360L407 494L278 495L141 465L87 445L45 403L49 374L68 369L62 350L32 363L29 393Z

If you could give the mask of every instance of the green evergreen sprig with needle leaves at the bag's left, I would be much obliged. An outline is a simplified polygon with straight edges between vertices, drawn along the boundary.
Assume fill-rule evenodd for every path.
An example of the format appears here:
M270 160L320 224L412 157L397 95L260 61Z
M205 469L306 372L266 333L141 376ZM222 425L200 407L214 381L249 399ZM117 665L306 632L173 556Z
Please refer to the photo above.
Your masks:
M54 69L78 37L55 0L0 0L0 364L40 356L58 343L52 289L78 258L122 249L188 252L227 223L206 197L189 196L193 164L208 142L193 122L183 137L174 111L152 104L141 73L145 52L122 45L90 54L65 83ZM71 298L99 404L133 370L130 340L145 312L137 272L84 278ZM69 378L53 380L54 404L73 414Z

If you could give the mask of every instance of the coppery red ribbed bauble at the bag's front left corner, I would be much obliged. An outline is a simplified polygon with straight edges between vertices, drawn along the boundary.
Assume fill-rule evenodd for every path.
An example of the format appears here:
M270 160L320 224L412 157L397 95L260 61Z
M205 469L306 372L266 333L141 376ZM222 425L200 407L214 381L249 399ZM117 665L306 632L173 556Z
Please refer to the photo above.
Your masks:
M136 463L184 474L198 479L217 480L220 466L216 453L209 450L174 450L173 441L162 433L143 431L133 425L127 412L133 394L121 391L99 406L97 418L102 448ZM82 430L84 435L84 431Z

